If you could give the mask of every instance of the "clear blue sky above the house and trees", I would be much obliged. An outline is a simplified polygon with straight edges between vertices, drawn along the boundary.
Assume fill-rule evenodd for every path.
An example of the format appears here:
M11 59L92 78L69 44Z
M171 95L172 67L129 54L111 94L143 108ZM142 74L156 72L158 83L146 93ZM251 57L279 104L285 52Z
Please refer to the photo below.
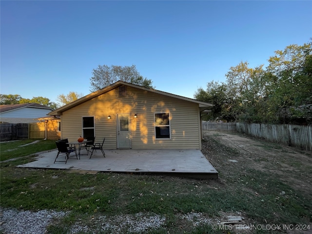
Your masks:
M98 65L136 65L194 98L231 66L312 38L312 1L0 1L0 93L88 95Z

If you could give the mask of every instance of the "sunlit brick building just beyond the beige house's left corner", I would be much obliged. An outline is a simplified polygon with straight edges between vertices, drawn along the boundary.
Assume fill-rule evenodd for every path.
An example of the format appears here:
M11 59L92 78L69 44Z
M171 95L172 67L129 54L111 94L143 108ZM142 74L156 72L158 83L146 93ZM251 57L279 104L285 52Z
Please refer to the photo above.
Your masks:
M44 123L45 137L47 140L60 139L60 117L46 116L38 118L41 123Z

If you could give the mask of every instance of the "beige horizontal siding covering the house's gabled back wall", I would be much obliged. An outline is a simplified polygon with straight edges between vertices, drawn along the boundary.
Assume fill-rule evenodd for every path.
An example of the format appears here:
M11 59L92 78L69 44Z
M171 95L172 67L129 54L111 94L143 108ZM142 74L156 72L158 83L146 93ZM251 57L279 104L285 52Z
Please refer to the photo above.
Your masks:
M117 88L63 112L61 133L70 141L77 140L82 133L81 117L94 116L96 142L106 137L104 147L116 149L117 114L130 114L133 149L200 149L198 111L197 103L127 86L126 97L118 97ZM170 113L170 139L156 139L155 113Z

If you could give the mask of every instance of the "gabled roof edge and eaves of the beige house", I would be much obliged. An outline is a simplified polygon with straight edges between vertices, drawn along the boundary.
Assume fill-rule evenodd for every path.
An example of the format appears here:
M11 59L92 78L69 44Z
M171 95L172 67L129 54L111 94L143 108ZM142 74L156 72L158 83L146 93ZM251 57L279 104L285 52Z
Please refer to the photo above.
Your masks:
M98 91L96 92L93 92L87 96L84 96L82 98L79 98L78 100L76 101L73 101L65 106L62 106L60 107L59 109L56 109L55 111L52 111L49 113L49 115L51 116L55 116L55 115L61 115L62 112L64 111L67 111L85 101L88 101L92 98L96 98L102 94L105 94L121 85L127 85L127 86L130 86L130 87L134 87L134 88L137 88L137 89L141 89L141 90L145 90L145 91L149 91L149 92L153 92L153 93L156 93L156 94L161 94L161 95L165 95L165 96L168 96L168 97L172 97L172 98L179 98L181 100L185 100L185 101L191 101L191 102L195 102L198 104L199 108L200 108L200 111L204 111L204 110L207 110L207 109L211 109L211 107L213 107L214 105L211 104L211 103L208 103L208 102L203 102L203 101L198 101L198 100L195 100L195 99L192 99L192 98L186 98L186 97L182 97L182 96L178 96L178 95L175 95L175 94L170 94L170 93L167 93L167 92L163 92L163 91L159 91L159 90L156 90L156 89L149 89L149 88L146 88L146 87L143 87L143 86L139 86L139 85L136 85L136 84L132 84L132 83L127 83L127 82L124 82L124 81L117 81L116 83L114 84L111 84L109 86L106 86L105 88L102 88L102 89L99 89Z

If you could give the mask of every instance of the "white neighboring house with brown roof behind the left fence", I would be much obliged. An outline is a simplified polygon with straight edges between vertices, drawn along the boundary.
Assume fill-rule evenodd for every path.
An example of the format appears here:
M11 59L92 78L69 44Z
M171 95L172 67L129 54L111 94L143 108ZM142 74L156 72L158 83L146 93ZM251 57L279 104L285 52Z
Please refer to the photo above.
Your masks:
M0 121L6 123L36 123L52 108L38 103L0 105Z

